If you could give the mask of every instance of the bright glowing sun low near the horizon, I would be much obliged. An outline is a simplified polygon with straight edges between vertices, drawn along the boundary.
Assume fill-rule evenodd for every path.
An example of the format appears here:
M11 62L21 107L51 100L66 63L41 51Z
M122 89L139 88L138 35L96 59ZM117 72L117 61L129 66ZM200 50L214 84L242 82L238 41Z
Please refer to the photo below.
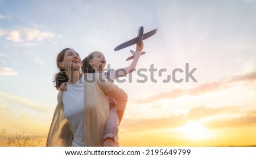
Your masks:
M178 129L186 139L200 140L209 138L210 131L200 122L188 121L186 125Z

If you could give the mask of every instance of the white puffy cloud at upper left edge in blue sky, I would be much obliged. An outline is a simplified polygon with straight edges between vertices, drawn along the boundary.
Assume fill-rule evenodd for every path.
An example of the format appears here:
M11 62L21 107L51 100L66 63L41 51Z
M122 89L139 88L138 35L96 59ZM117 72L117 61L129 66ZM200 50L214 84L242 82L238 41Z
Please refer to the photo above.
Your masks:
M0 30L0 36L3 35L6 35L6 40L13 42L43 41L54 37L51 32L31 28Z

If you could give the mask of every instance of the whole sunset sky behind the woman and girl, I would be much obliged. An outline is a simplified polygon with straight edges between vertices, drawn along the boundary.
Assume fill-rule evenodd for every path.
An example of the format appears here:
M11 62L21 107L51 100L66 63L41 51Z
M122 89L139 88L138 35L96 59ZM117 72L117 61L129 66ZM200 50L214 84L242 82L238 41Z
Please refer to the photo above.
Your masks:
M129 96L121 146L256 144L256 2L0 0L0 145L13 135L46 138L55 110L53 75L64 48L104 53L137 69L115 81ZM44 144L42 145L44 146Z

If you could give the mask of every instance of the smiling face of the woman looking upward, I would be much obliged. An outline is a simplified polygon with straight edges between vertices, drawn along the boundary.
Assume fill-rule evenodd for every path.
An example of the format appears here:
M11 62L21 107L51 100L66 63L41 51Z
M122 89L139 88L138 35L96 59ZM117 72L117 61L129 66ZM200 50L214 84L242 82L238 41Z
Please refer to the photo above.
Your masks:
M75 50L68 49L64 53L63 61L59 62L61 68L81 69L81 58Z

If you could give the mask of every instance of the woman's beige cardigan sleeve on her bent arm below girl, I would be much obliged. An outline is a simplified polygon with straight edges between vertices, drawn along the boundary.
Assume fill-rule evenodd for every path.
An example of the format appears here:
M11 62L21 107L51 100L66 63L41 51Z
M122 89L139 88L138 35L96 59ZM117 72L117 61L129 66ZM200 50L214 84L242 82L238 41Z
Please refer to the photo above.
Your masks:
M98 86L100 86L106 96L112 97L117 101L117 110L125 110L128 96L123 89L109 82L105 75L103 80L98 80Z

